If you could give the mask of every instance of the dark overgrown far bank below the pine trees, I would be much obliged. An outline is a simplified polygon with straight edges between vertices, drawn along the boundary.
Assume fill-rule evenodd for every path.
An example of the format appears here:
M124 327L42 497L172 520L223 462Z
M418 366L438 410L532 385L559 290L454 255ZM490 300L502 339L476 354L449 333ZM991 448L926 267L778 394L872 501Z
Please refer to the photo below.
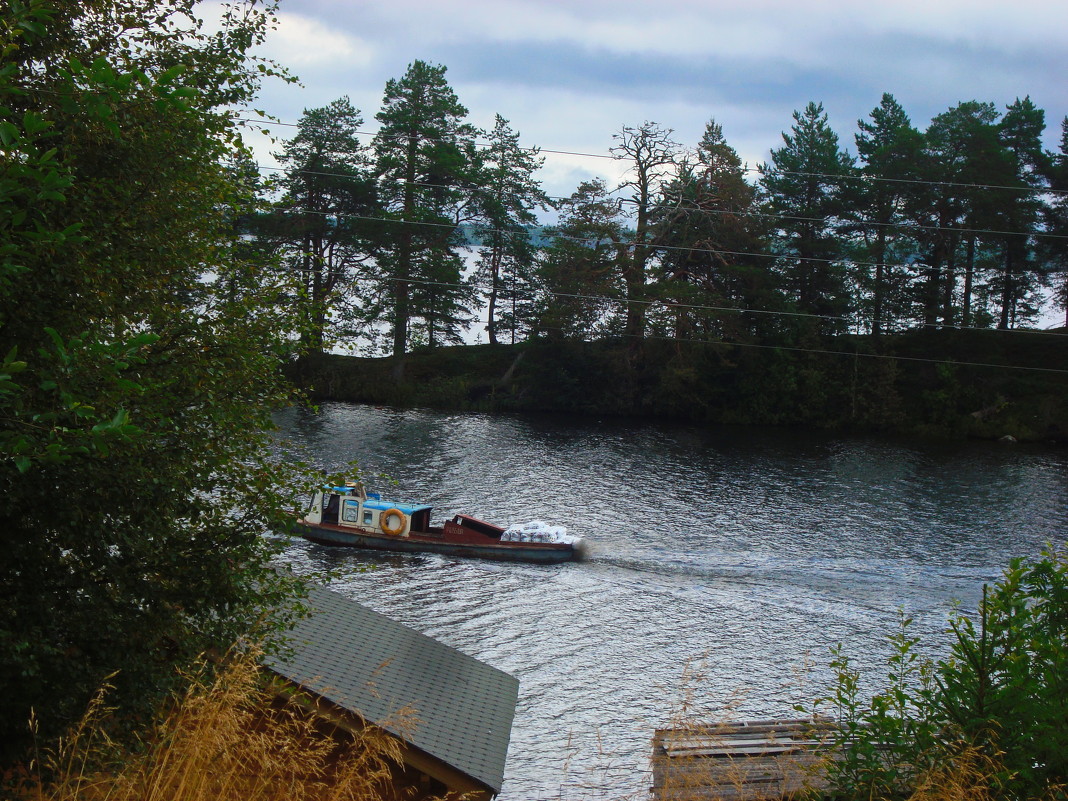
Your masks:
M292 375L316 399L1068 443L1068 340L1048 333L926 331L796 349L533 341L415 351L402 380L395 366L320 355Z

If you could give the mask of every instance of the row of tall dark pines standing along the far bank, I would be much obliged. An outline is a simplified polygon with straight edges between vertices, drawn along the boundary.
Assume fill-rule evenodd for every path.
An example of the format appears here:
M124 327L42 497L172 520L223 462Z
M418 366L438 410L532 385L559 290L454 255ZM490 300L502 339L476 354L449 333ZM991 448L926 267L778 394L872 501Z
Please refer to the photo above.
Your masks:
M1047 151L1030 97L960 103L921 130L884 94L855 155L810 103L755 180L714 120L693 147L624 126L624 179L567 198L545 193L544 157L507 120L466 116L445 67L415 61L368 144L342 97L305 110L281 177L256 178L250 247L305 351L403 356L462 343L476 319L490 343L797 344L1027 326L1046 293L1068 310L1068 117Z

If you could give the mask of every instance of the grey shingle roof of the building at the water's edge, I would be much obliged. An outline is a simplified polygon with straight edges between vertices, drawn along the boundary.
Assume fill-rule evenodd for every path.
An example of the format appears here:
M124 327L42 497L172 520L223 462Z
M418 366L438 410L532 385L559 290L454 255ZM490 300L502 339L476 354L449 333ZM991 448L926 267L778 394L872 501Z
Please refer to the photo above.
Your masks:
M395 734L499 792L519 681L329 590L313 588L281 676ZM412 707L413 732L391 727Z

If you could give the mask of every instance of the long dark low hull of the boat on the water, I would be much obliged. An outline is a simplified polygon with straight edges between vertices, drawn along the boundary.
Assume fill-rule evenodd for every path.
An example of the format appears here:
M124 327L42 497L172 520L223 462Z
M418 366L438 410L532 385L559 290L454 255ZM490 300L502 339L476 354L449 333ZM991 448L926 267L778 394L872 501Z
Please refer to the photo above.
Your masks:
M497 543L455 541L447 536L426 536L412 532L407 537L372 534L365 531L331 525L329 523L298 522L297 532L313 543L323 545L366 548L402 553L441 553L446 556L470 556L501 562L532 562L553 565L578 559L572 546L554 543Z

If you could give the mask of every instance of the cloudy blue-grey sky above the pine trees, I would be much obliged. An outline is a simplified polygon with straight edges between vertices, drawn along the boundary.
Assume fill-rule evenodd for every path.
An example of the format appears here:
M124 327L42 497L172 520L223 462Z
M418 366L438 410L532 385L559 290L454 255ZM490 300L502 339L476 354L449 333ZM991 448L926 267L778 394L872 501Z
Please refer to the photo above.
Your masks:
M1068 114L1068 0L282 0L264 52L303 84L265 88L286 123L348 95L374 130L386 81L422 59L447 67L470 122L500 113L527 145L607 154L622 126L655 121L692 146L714 117L751 167L810 100L850 150L883 92L921 128L963 100L1031 95L1049 147ZM619 174L545 155L553 195Z

